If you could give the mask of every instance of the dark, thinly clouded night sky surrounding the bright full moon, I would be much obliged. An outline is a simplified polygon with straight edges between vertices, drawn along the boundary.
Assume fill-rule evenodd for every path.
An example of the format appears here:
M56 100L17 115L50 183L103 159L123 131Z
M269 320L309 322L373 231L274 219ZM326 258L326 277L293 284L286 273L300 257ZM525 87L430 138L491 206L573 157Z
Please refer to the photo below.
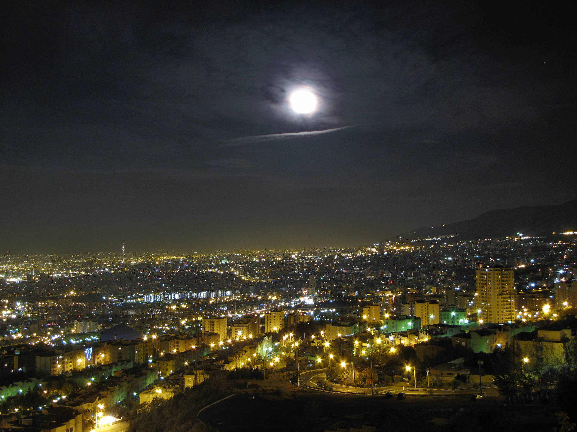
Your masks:
M574 2L2 7L2 252L353 247L577 197Z

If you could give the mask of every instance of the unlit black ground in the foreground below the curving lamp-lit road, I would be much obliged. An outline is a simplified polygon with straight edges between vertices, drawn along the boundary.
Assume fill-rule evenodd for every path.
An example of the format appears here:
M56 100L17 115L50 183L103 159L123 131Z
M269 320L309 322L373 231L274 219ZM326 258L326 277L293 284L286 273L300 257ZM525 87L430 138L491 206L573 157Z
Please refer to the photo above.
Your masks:
M209 429L233 431L324 431L375 426L378 431L485 430L550 431L558 426L553 405L504 406L501 397L471 401L461 396L407 397L404 400L260 388L208 408L201 420ZM252 394L252 393L251 393Z

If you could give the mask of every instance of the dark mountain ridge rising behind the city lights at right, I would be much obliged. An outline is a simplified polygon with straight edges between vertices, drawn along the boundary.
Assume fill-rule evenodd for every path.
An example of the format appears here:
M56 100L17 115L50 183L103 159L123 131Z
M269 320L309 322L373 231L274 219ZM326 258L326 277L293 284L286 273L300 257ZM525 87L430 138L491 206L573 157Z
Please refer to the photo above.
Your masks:
M523 233L527 236L577 231L577 199L557 206L522 206L516 209L491 210L468 221L443 226L422 226L399 234L403 240L456 237L458 240L498 238ZM398 240L398 237L394 239ZM392 239L392 240L394 240Z

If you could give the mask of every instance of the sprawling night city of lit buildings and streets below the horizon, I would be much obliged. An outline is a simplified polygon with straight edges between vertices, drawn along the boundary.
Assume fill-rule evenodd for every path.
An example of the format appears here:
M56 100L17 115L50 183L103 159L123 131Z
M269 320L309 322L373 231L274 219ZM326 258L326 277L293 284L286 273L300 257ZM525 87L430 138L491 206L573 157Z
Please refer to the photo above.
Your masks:
M548 397L577 329L576 238L6 253L3 428L97 430L222 371L283 373L333 392L474 387L478 397L485 386L510 403ZM507 359L505 370L492 355Z

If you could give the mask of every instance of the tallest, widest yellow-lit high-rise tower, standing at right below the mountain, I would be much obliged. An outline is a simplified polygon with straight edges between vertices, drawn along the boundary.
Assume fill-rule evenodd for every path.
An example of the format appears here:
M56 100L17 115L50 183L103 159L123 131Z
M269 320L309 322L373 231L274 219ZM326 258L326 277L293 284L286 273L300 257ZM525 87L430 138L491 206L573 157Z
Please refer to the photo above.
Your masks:
M510 267L477 268L480 319L488 323L507 323L515 319L515 278Z

